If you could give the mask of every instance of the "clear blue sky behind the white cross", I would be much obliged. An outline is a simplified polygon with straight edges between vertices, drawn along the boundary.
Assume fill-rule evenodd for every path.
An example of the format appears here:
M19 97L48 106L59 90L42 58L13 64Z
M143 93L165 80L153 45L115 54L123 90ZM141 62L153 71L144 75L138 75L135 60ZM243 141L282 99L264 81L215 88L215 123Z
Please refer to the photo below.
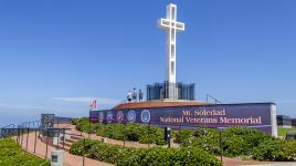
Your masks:
M178 81L197 100L275 102L296 117L294 0L2 0L0 125L40 113L83 116L133 89L165 80L166 33L157 20L178 6Z

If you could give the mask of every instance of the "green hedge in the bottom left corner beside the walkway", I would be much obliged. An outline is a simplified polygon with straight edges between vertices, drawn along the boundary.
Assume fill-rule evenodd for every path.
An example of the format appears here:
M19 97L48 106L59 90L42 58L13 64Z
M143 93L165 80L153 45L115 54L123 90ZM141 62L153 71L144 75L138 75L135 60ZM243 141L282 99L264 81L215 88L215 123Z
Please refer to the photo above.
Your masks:
M11 138L0 141L0 165L3 166L49 166L50 162L24 152Z

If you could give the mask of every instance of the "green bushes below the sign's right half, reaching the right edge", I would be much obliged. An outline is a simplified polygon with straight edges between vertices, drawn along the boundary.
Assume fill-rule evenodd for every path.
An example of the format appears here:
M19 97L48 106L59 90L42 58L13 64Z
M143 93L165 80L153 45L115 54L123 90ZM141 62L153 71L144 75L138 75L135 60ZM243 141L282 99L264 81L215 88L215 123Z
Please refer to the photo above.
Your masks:
M177 132L181 133L181 131ZM192 136L181 141L183 147L201 147L220 155L220 132L214 128L197 128ZM269 134L246 127L229 127L221 133L223 155L249 156L256 160L295 160L296 142L274 138Z

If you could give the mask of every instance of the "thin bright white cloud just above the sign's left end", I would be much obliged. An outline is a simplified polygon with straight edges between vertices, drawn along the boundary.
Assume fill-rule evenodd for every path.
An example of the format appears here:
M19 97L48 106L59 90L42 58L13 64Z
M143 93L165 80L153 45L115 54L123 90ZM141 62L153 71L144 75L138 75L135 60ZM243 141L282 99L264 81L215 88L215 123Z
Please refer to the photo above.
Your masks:
M119 100L108 97L52 97L53 101L71 102L71 103L91 103L96 100L98 104L117 104Z

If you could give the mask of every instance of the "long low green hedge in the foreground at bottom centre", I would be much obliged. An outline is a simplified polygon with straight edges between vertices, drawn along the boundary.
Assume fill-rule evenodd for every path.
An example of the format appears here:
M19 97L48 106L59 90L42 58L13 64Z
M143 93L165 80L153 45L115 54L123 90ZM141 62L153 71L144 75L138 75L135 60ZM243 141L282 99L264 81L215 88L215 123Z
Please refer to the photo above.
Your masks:
M127 148L109 145L98 141L85 139L72 144L70 153L85 155L97 160L118 166L155 166L155 165L189 165L189 166L220 166L214 156L199 148Z

